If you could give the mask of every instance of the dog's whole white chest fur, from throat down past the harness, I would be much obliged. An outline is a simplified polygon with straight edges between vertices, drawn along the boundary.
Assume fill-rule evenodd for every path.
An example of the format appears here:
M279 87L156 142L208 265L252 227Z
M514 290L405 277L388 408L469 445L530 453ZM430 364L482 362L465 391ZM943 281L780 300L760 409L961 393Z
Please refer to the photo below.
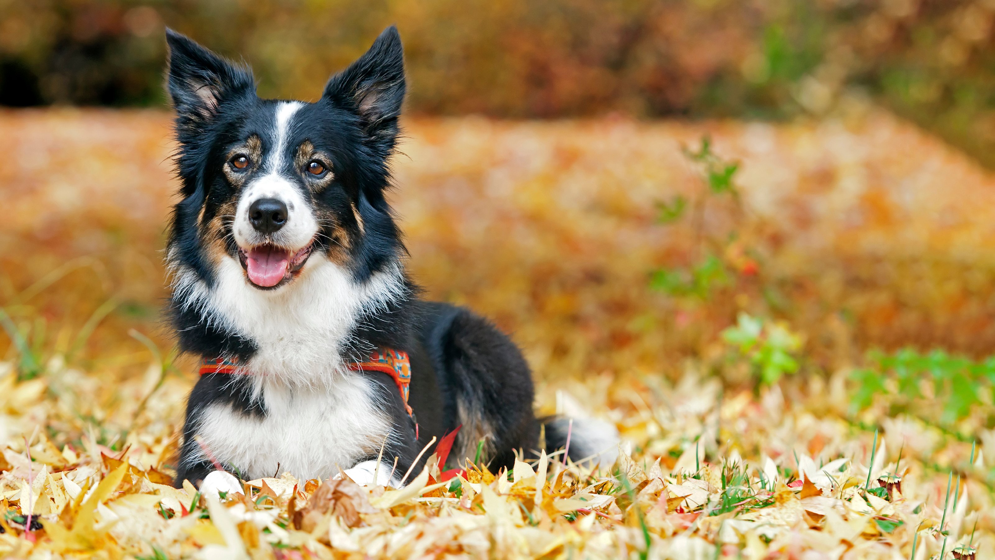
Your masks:
M177 293L183 305L201 308L255 343L244 373L255 378L266 414L207 406L196 430L207 451L246 478L286 471L325 478L376 454L391 431L390 417L376 401L373 382L345 369L358 357L343 357L341 349L365 312L403 293L400 270L359 284L314 254L293 289L275 292L249 286L232 258L220 259L215 271L213 287L178 271Z

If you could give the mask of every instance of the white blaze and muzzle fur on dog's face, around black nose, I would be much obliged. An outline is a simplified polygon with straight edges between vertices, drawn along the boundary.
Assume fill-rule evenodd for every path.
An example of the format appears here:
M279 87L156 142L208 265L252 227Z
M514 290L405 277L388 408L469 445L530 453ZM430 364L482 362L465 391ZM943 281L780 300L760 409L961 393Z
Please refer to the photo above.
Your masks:
M317 233L317 220L314 219L300 187L284 174L287 133L294 114L301 107L303 104L298 102L285 102L277 108L273 133L269 139L273 149L259 162L262 174L246 184L239 194L232 229L240 247L248 249L273 243L296 251L310 243ZM256 231L249 221L249 207L261 198L276 198L287 204L287 224L270 236Z

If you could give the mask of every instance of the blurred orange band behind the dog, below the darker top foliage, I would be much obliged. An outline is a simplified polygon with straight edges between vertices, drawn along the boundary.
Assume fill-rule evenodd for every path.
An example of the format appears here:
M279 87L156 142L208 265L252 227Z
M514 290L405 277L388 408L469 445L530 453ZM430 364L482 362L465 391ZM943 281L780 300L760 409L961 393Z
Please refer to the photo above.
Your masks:
M169 126L148 111L0 113L0 302L40 354L126 372L147 360L128 329L170 347L158 324ZM869 347L995 345L995 177L885 113L405 126L392 198L410 271L429 296L494 318L540 377L678 375L683 357L719 352L739 311L788 320L825 371ZM720 256L756 259L707 301L650 288L654 270L698 258L695 229L660 223L656 205L704 188L682 152L703 135L740 162L747 225ZM733 216L719 203L702 219L721 236Z

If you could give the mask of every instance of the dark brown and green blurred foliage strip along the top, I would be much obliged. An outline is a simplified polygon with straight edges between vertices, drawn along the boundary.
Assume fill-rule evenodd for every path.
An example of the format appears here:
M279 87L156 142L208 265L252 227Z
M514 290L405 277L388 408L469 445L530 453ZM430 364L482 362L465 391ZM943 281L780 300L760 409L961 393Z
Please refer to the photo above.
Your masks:
M162 27L311 99L397 23L420 115L784 119L860 96L991 164L990 0L0 2L0 104L161 107Z

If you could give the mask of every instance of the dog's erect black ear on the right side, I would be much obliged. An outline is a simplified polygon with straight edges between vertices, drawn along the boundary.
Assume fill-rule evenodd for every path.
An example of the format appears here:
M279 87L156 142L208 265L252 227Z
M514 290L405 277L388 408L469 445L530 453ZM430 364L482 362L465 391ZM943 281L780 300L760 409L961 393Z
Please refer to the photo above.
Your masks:
M395 125L404 90L404 48L397 28L390 26L366 54L328 80L324 97L359 115L367 134L376 137Z

